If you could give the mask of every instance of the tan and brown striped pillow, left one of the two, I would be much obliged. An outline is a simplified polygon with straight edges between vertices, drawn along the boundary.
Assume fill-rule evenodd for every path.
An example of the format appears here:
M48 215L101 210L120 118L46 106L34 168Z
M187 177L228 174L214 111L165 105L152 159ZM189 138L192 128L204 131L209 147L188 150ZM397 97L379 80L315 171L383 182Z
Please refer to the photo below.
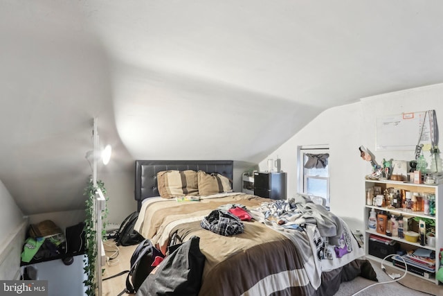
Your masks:
M196 171L161 171L157 173L157 184L162 198L199 195Z

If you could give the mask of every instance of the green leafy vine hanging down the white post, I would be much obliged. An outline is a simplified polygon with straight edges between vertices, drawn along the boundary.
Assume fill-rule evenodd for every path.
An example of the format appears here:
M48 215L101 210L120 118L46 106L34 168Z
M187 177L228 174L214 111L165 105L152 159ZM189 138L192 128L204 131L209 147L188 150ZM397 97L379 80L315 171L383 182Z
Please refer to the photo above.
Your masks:
M83 195L87 196L86 200L86 218L84 220L84 236L86 238L86 253L87 259L84 259L84 273L87 279L83 281L87 288L86 293L89 296L96 295L96 258L97 258L97 232L96 232L96 191L100 189L103 195L106 195L105 183L102 180L97 181L97 186L93 186L92 180L89 180L87 186L84 188ZM106 198L107 202L108 198ZM102 240L106 240L106 225L108 209L102 211Z

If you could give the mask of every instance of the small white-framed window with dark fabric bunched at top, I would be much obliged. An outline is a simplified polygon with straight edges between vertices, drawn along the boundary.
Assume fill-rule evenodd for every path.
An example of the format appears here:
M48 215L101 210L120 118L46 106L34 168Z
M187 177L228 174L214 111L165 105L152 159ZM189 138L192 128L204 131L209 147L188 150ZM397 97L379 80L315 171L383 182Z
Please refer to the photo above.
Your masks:
M329 209L329 149L300 147L298 164L299 191L325 198Z

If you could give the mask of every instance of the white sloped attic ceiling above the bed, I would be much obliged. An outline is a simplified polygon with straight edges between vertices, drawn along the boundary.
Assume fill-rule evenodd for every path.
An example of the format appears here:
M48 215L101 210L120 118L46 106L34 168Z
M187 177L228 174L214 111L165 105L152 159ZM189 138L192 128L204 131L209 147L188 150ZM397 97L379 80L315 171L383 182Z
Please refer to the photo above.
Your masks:
M442 15L441 1L1 1L0 180L25 214L81 209L93 117L110 174L260 162L327 108L442 82Z

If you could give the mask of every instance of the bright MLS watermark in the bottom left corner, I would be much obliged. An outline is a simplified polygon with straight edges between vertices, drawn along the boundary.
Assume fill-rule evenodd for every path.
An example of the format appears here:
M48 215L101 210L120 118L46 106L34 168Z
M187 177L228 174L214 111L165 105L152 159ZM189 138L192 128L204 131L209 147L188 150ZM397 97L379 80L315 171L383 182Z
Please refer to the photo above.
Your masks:
M0 296L48 296L48 281L0 281Z

